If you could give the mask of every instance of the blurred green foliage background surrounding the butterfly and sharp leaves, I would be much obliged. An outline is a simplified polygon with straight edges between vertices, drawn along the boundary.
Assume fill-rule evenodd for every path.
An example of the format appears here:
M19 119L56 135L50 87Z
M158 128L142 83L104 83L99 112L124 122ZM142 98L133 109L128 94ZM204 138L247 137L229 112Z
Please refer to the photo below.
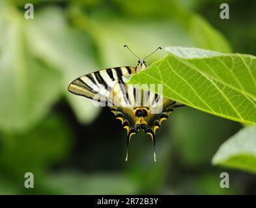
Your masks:
M67 92L80 75L134 66L124 44L139 55L173 45L255 55L255 2L226 2L228 20L213 0L31 0L35 19L23 16L27 1L0 1L0 194L255 194L254 175L210 163L239 123L178 109L157 132L157 162L143 133L125 162L121 124Z

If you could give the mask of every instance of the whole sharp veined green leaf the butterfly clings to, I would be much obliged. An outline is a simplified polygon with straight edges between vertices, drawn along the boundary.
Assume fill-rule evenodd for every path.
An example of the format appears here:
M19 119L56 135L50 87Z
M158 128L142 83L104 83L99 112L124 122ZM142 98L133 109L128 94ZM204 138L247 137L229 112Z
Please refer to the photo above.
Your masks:
M186 47L166 50L171 54L132 76L130 83L162 84L169 99L237 122L256 123L255 57Z

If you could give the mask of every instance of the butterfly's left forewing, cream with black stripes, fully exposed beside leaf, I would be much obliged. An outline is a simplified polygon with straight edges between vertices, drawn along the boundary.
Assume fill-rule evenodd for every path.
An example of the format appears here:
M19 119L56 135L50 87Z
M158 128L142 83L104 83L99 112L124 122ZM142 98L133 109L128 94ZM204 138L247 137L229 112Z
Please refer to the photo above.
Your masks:
M135 68L130 66L100 70L75 79L68 86L68 91L98 101L102 106L111 106L113 87L117 83L123 83L124 77L130 77L134 73Z

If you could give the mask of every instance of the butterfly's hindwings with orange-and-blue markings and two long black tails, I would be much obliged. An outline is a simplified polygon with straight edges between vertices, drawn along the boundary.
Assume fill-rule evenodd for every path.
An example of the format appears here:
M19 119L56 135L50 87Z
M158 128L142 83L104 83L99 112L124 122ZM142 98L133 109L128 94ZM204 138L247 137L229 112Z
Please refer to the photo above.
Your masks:
M132 89L131 89L132 90ZM128 91L128 97L131 101L137 100L135 93L132 94ZM133 92L139 92L141 95L140 105L137 107L119 106L115 105L111 107L111 111L115 114L115 118L121 120L122 127L127 130L127 149L126 149L126 161L128 160L128 148L132 135L135 135L139 129L142 129L145 133L149 134L152 138L154 145L154 160L156 161L156 129L160 128L161 123L167 120L169 114L173 112L173 109L179 107L176 101L168 98L164 98L154 92L147 92L145 90L133 89ZM131 96L132 95L132 96ZM145 95L148 95L145 98ZM145 101L145 103L143 103Z

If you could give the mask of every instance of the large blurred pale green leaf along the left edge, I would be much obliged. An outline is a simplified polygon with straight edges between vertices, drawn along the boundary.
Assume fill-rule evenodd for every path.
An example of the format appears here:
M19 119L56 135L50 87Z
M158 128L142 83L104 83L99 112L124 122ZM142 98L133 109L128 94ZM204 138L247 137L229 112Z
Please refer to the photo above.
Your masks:
M0 128L24 131L59 98L61 74L31 53L30 34L16 8L0 8L0 29Z

